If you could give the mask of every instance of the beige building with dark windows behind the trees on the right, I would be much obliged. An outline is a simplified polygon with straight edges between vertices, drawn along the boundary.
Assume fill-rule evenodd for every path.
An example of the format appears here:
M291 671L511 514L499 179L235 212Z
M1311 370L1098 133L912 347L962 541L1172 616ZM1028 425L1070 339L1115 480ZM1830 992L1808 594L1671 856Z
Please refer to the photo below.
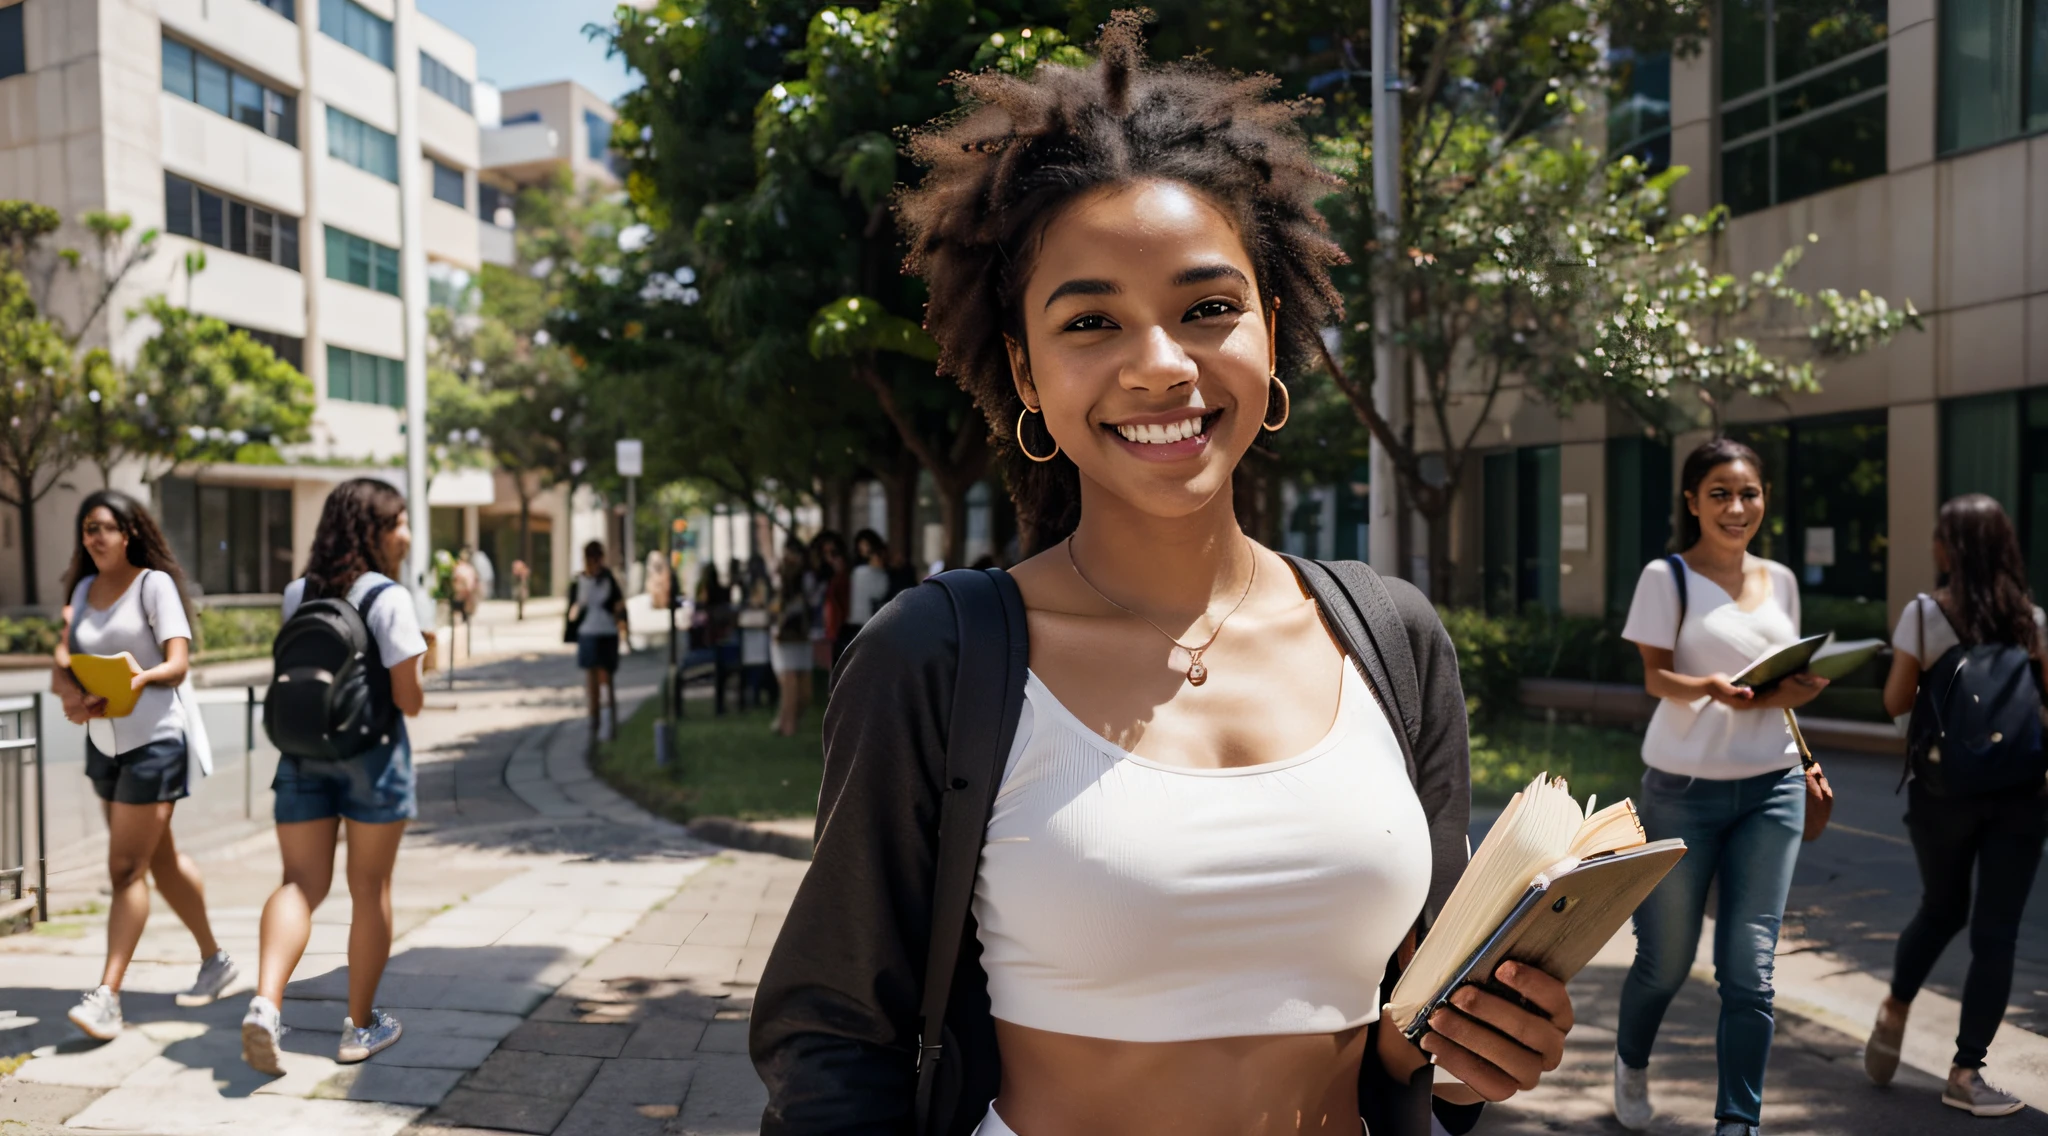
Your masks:
M1759 551L1800 575L1808 630L1888 635L1933 587L1935 510L1964 491L2005 504L2048 594L2048 20L2023 8L1726 0L1700 55L1642 53L1616 102L1616 151L1692 170L1679 211L1731 209L1729 270L1812 233L1800 287L1925 313L1925 332L1827 366L1823 393L1729 407L1769 465ZM1837 35L1806 35L1817 18ZM1454 600L1626 610L1702 438L1663 446L1618 407L1561 420L1503 399L1454 518ZM1307 540L1329 534L1311 524Z

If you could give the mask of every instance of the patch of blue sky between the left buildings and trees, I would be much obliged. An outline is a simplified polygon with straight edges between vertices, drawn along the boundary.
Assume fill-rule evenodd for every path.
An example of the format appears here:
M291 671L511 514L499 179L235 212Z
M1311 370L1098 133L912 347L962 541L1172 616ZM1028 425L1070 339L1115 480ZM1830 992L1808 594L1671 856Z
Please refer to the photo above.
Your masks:
M500 88L575 80L606 100L639 86L584 25L608 23L614 0L420 0L420 10L477 45L477 76Z

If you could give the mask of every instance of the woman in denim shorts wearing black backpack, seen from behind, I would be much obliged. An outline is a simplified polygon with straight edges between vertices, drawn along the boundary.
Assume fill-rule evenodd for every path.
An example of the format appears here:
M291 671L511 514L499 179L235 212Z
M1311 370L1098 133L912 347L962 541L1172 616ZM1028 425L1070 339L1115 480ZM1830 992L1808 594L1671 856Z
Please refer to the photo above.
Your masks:
M344 825L352 911L336 1060L367 1060L401 1034L377 1009L377 982L391 958L391 872L420 811L406 718L426 702L426 637L412 594L393 579L408 549L403 493L371 477L344 481L319 512L305 577L285 587L264 698L264 729L281 753L270 788L285 882L262 907L256 997L242 1019L242 1060L272 1077L285 1073L285 982L305 954L313 909L328 899Z

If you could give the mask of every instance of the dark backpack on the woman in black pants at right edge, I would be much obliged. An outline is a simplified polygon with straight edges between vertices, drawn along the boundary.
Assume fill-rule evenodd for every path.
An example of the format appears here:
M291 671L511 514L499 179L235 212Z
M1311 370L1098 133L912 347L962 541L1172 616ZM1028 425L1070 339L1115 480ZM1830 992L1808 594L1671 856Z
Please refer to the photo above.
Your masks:
M1925 649L1925 606L1919 620ZM1907 770L1935 796L2038 788L2048 778L2040 675L2025 647L1958 643L1921 673Z

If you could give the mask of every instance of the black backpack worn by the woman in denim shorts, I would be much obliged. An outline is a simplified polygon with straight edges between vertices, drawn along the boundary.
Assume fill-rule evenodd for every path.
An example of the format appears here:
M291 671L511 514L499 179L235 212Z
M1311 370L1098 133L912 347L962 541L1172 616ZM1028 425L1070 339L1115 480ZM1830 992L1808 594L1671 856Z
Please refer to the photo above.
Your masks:
M369 612L383 581L348 600L307 600L270 645L262 725L287 757L338 761L391 739L391 671L371 637Z

